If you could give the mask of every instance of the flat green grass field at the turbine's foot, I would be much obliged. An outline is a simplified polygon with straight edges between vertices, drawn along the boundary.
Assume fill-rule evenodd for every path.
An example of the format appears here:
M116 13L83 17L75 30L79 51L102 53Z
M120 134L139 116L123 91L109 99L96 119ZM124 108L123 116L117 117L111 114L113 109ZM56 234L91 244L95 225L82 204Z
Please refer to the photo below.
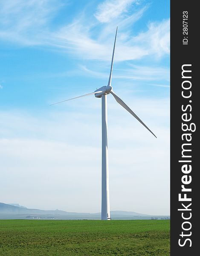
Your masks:
M0 220L0 255L165 256L169 230L168 220Z

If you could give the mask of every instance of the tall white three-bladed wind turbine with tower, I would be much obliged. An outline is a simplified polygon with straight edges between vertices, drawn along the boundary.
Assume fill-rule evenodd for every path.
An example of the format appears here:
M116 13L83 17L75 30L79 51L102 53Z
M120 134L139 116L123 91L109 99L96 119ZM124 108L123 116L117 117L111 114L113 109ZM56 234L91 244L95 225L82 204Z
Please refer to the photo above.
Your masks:
M113 59L114 59L114 52L115 52L115 44L116 44L116 36L117 36L117 29L115 35L115 41L113 46L113 55L110 67L110 76L108 80L107 86L102 86L99 89L95 90L93 93L84 94L82 96L78 96L72 99L78 99L84 96L94 94L96 98L101 98L101 119L102 119L102 164L101 164L101 220L110 220L110 198L109 198L109 175L108 175L108 146L107 146L107 95L112 94L113 97L116 99L123 108L125 108L132 116L134 116L145 128L148 129L155 137L156 135L139 119L138 116L119 98L114 92L113 87L111 86L112 81L112 73L113 73ZM61 102L66 102L71 99L67 99ZM57 102L52 105L61 103ZM157 137L156 137L157 138Z

